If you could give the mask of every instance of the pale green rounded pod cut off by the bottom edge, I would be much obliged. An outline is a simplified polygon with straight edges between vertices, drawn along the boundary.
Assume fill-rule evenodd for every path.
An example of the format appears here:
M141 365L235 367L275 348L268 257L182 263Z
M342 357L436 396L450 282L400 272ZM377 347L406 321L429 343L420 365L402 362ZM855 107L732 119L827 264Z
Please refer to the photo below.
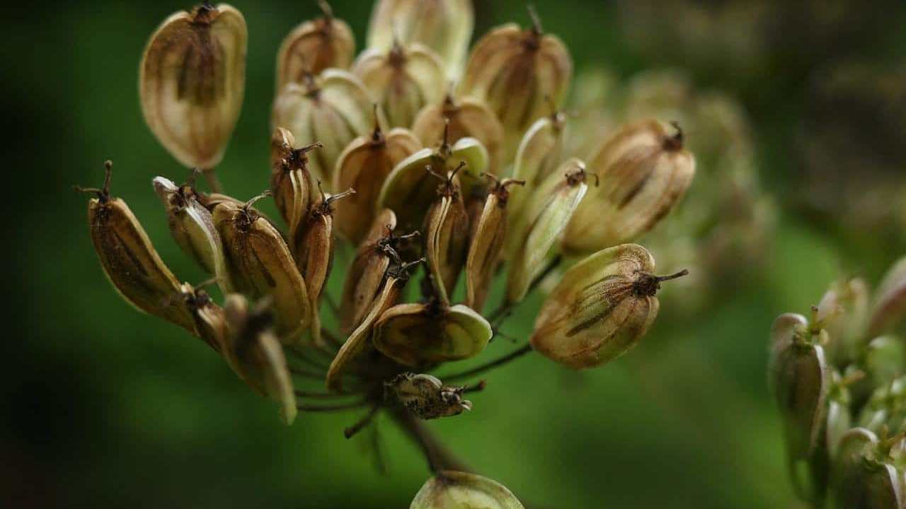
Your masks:
M421 486L410 509L525 509L506 486L481 475L445 470Z

